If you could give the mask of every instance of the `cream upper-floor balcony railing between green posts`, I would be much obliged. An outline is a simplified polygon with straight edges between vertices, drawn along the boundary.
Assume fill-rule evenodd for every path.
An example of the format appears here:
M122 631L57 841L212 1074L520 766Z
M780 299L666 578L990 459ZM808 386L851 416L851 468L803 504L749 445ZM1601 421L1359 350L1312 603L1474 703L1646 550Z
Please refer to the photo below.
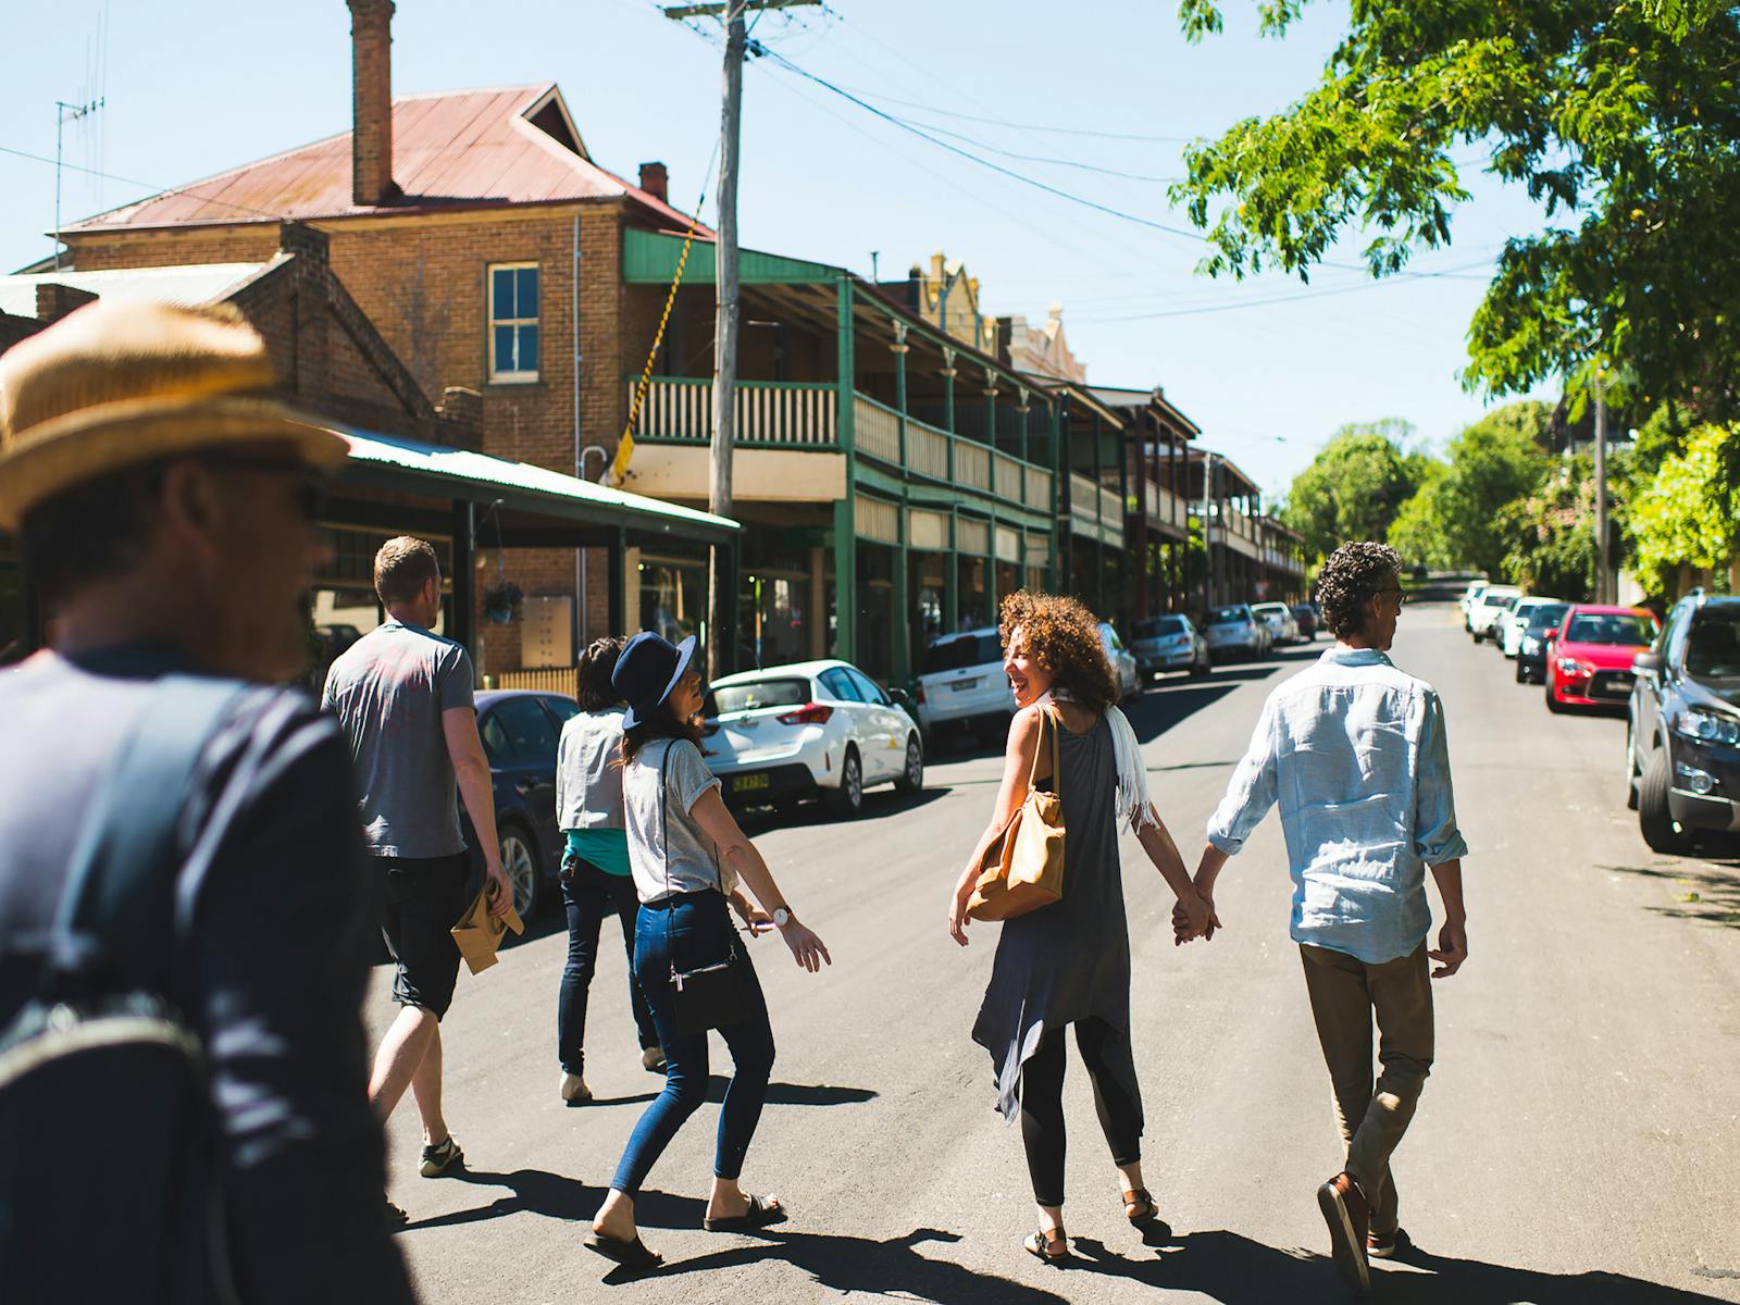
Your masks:
M628 390L633 402L633 381ZM837 449L837 393L832 385L738 381L738 444L750 449ZM635 423L635 438L706 444L712 430L710 379L652 379ZM1051 515L1053 475L1044 466L901 416L865 395L853 395L853 445L863 458L908 475Z

